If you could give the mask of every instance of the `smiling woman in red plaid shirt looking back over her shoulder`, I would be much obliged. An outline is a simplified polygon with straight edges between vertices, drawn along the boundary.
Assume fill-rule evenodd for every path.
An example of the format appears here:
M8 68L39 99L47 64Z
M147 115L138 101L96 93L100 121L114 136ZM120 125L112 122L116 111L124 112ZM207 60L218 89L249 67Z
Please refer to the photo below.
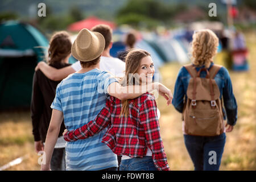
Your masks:
M121 84L146 85L152 82L154 72L150 53L132 49L126 56L126 73ZM126 101L109 96L106 106L93 121L79 129L65 131L64 139L69 142L85 139L108 127L102 142L122 156L121 171L170 170L157 110L155 97L148 92Z

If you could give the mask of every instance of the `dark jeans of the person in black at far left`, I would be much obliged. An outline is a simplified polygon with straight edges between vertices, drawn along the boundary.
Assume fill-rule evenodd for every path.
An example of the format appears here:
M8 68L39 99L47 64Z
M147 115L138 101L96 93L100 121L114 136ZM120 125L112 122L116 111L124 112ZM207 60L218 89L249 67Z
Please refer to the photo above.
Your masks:
M54 148L52 159L51 159L51 170L52 171L65 171L66 160L65 160L65 148Z

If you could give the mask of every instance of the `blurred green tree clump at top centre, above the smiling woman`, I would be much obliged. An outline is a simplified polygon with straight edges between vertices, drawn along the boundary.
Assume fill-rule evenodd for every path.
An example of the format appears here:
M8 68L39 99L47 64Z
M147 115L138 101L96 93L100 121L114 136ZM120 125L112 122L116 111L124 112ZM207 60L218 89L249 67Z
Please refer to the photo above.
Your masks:
M117 24L154 28L158 25L170 25L176 13L187 9L184 4L169 5L155 0L129 0L117 11L115 19Z

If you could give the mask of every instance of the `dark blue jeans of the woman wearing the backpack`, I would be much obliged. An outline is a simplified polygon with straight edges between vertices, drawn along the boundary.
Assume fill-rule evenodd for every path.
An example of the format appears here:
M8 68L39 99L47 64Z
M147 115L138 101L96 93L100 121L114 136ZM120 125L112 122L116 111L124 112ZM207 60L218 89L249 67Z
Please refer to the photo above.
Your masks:
M184 135L185 146L195 171L218 171L226 142L226 134L214 137Z

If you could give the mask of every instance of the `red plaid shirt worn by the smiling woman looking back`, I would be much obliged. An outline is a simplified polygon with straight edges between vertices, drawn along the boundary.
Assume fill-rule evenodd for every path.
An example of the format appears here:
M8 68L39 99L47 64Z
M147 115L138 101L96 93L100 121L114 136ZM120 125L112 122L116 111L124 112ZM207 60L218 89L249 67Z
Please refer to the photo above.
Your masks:
M157 116L155 97L149 93L129 101L128 117L120 117L122 104L118 98L109 96L106 105L97 117L79 129L68 131L64 139L68 142L85 139L105 127L108 131L102 138L117 155L131 158L143 157L147 146L152 151L152 159L158 170L169 170L166 153Z

